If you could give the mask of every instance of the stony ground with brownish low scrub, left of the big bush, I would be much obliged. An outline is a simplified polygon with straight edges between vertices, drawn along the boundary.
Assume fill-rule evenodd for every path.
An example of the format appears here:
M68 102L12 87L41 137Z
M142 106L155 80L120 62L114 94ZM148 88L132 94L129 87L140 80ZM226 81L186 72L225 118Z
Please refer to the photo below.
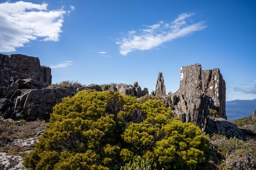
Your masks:
M47 122L0 119L0 170L25 170L23 157L45 130Z

